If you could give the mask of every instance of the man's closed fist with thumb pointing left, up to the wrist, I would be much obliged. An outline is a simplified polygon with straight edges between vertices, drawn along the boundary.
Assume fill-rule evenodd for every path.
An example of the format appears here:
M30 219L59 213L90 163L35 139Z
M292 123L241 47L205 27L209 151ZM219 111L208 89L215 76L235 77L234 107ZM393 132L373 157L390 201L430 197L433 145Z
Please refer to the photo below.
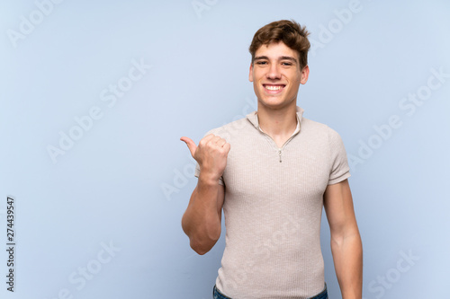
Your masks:
M211 180L219 180L227 166L229 143L213 134L204 136L198 146L191 138L181 137L180 140L184 141L191 151L193 159L199 163L202 176Z

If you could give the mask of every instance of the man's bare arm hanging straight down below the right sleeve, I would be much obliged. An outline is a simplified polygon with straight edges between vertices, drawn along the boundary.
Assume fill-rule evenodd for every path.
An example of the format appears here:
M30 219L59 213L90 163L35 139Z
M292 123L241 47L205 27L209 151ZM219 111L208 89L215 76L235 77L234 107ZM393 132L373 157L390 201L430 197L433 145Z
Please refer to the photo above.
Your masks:
M343 299L361 299L363 292L363 245L356 224L348 180L329 185L324 207L331 233L331 253Z

